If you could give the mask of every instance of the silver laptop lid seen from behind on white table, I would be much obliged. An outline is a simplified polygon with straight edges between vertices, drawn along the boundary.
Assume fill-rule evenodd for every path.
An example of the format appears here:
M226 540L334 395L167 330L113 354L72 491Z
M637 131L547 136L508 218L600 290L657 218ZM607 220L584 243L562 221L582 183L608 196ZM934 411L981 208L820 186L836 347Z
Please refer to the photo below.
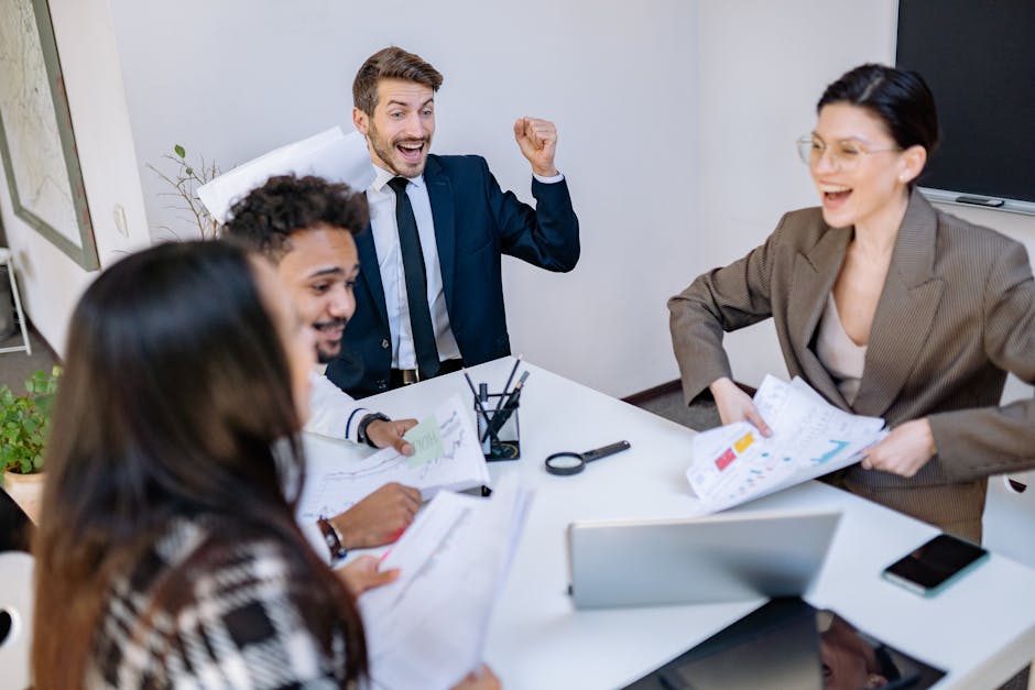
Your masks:
M838 511L731 513L695 519L568 525L577 609L658 606L804 594L822 567Z

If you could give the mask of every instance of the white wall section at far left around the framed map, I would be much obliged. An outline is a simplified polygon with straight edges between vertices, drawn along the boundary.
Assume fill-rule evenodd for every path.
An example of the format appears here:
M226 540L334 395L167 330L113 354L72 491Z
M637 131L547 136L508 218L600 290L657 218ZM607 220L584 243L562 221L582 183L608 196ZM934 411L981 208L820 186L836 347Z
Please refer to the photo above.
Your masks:
M97 249L107 266L150 241L111 18L107 0L50 0L50 4ZM117 204L126 209L128 236L116 229ZM96 273L80 269L14 216L2 167L0 215L19 265L25 309L61 355L68 317Z

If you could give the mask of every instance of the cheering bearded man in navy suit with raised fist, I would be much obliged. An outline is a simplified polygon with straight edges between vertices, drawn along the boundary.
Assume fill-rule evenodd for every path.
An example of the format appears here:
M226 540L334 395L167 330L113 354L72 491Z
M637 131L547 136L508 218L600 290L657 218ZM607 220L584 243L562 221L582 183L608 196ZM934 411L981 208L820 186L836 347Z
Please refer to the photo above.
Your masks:
M356 316L327 377L356 397L510 354L502 254L549 271L578 262L554 124L514 123L532 165L532 208L500 189L481 156L428 154L442 80L417 55L389 47L352 84L352 121L377 178L367 189L370 227L356 238Z

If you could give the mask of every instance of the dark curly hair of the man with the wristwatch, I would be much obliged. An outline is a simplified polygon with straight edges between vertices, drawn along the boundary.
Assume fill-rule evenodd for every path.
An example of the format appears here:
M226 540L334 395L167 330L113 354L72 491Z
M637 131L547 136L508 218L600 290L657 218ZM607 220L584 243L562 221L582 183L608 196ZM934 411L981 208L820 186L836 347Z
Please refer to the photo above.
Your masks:
M295 232L325 226L356 234L369 220L367 197L344 183L277 175L233 204L224 237L276 262Z

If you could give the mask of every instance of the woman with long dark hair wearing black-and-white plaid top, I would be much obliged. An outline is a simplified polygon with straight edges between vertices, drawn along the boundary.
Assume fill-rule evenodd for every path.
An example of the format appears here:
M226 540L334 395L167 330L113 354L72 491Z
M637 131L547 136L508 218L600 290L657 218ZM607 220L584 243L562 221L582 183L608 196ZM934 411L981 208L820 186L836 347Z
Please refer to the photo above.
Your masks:
M131 255L86 291L66 353L36 688L356 684L353 598L294 521L315 339L273 270L222 242ZM390 579L373 560L353 591Z

